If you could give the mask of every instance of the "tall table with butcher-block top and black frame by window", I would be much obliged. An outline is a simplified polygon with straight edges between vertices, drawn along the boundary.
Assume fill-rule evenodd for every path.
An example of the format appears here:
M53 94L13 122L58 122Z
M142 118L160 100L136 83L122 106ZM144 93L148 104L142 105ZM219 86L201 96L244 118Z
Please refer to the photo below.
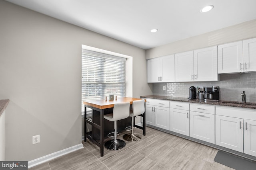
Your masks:
M140 98L118 98L117 100L106 101L105 99L102 99L102 100L90 100L90 101L83 102L84 104L84 141L86 142L86 137L87 137L93 143L95 143L98 147L100 147L100 156L104 155L103 153L104 129L106 129L106 127L104 127L104 114L112 113L114 104L130 102L130 105L132 105L132 102L135 100L141 100L141 99ZM92 117L90 118L86 118L87 107L92 109ZM146 135L145 113L139 116L143 117L143 127L140 127L135 124L134 124L134 127L143 129L143 135ZM86 132L86 123L89 123L90 125L92 125L92 131ZM114 125L112 126L112 131L114 131Z

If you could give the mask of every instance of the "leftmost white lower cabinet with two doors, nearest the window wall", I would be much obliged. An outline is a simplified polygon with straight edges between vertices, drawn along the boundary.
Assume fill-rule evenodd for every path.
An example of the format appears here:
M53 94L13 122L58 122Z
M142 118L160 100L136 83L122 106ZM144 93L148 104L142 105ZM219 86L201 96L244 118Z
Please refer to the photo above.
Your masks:
M170 130L170 102L146 99L146 124Z

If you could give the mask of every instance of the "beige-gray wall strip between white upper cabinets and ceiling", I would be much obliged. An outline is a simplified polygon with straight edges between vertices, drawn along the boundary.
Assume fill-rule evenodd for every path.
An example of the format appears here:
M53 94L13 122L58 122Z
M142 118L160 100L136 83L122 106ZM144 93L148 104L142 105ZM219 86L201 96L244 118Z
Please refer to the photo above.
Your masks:
M256 19L146 50L146 59L256 37ZM189 27L188 27L189 29ZM200 29L200 28L198 28Z

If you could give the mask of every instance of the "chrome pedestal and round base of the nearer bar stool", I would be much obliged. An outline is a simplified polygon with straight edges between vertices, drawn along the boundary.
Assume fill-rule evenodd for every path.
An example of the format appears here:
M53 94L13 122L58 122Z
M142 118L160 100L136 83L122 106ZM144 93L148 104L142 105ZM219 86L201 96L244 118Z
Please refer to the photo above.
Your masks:
M125 147L126 143L125 141L121 139L116 139L116 134L117 134L117 125L116 121L114 121L114 139L110 141L106 141L104 144L104 147L108 150L119 150Z

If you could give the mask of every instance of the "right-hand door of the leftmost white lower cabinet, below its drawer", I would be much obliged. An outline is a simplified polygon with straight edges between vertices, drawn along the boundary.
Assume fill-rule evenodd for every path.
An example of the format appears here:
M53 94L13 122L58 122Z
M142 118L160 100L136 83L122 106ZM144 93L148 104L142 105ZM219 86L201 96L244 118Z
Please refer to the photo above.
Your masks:
M170 131L170 108L155 106L154 125Z

